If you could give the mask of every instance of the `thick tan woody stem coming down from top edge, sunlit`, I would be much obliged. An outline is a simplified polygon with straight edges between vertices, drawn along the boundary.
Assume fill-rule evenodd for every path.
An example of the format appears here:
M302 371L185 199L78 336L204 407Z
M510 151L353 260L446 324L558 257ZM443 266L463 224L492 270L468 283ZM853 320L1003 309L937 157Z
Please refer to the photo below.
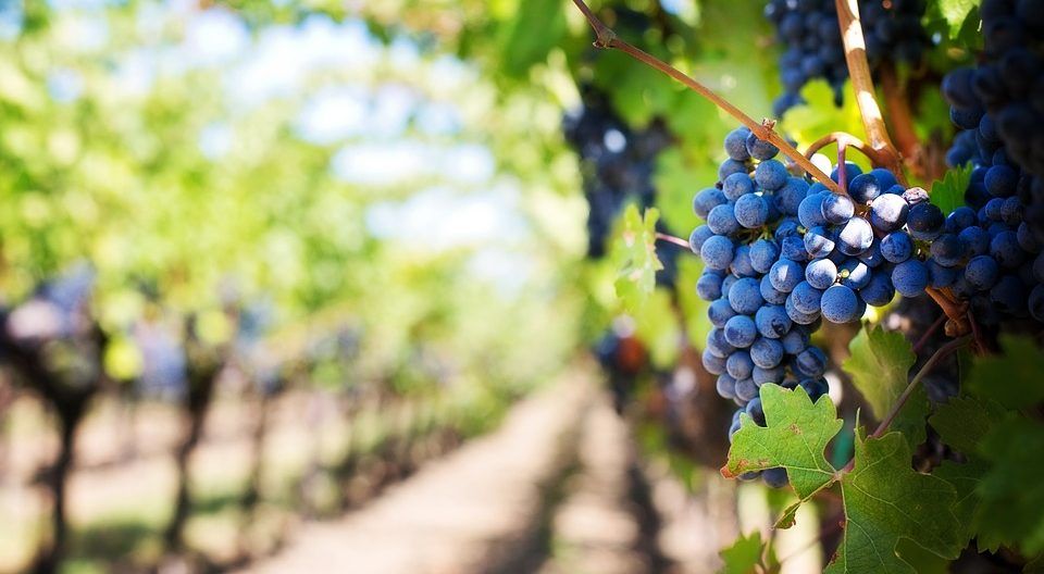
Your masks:
M867 43L862 37L862 24L859 22L858 2L857 0L836 0L836 5L848 76L856 92L856 104L859 107L859 115L862 117L870 148L879 154L881 165L892 172L903 187L908 187L899 152L888 137L888 128L884 124L881 107L878 105L873 78L870 76L870 63L867 61Z

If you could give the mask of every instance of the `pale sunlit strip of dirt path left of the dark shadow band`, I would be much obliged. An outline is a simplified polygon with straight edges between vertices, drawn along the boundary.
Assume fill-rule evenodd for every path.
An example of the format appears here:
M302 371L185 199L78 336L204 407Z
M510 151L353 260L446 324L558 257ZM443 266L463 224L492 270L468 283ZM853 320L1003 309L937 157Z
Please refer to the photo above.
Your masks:
M283 551L249 572L443 574L518 564L539 547L534 525L546 512L546 489L569 464L593 390L585 375L567 377L515 407L492 435L431 463L372 504L303 525Z

